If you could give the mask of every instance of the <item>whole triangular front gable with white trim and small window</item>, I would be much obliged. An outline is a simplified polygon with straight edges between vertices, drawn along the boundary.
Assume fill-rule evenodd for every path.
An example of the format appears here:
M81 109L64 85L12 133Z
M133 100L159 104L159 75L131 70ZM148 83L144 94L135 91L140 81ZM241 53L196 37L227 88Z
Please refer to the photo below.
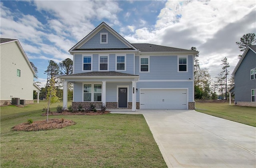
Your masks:
M120 34L110 28L105 22L102 22L80 42L74 45L69 52L106 50L138 51L136 47L120 36Z

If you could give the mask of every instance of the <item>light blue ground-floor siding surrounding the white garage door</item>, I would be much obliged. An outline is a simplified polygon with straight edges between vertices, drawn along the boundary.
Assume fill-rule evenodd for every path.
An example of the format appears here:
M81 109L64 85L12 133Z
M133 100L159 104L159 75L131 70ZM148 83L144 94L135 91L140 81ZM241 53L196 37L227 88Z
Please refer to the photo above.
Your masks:
M188 101L193 101L193 82L137 82L136 101L140 101L140 88L188 88Z

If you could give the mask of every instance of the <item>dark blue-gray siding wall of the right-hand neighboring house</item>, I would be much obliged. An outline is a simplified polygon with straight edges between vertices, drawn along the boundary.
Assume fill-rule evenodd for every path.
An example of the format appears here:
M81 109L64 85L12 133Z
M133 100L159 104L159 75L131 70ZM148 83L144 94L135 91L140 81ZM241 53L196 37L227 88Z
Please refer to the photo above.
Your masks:
M256 89L256 79L250 79L250 70L256 68L256 53L249 49L236 70L235 100L251 102L251 90Z

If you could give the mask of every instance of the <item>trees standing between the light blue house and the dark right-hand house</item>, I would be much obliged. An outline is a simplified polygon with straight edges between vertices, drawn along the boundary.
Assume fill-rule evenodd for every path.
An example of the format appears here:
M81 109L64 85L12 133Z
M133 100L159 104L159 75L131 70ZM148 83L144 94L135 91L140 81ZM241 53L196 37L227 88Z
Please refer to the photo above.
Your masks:
M256 38L254 33L244 34L239 42L236 42L240 51L244 52L246 47L254 45ZM192 51L197 51L196 47L191 47ZM200 68L199 53L194 55L194 98L195 99L222 99L227 100L227 90L234 85L234 76L228 79L230 67L228 59L224 57L221 61L222 70L214 79L210 77L207 68ZM240 59L242 55L238 55Z

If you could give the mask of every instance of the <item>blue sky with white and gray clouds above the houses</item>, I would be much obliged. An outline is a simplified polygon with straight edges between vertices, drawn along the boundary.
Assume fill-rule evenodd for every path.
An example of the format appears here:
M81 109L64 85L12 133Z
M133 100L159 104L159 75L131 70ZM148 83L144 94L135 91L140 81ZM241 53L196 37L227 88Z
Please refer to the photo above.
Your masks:
M48 61L72 59L68 50L102 22L130 43L196 47L200 67L214 79L224 57L232 73L242 54L236 42L256 33L256 1L0 1L0 37L19 40L40 87Z

